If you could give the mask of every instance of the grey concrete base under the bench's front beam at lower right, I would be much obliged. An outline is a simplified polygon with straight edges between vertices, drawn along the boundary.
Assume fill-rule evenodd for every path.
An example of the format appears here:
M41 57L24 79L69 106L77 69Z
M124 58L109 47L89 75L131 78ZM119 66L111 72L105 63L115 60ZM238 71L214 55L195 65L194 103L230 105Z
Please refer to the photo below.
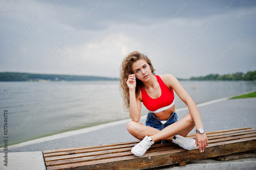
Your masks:
M152 168L155 169L155 168ZM190 161L187 162L187 165L179 166L178 164L172 166L165 166L156 168L158 170L255 170L256 169L256 157L238 159L238 160L230 160L230 161L216 161L211 158Z

